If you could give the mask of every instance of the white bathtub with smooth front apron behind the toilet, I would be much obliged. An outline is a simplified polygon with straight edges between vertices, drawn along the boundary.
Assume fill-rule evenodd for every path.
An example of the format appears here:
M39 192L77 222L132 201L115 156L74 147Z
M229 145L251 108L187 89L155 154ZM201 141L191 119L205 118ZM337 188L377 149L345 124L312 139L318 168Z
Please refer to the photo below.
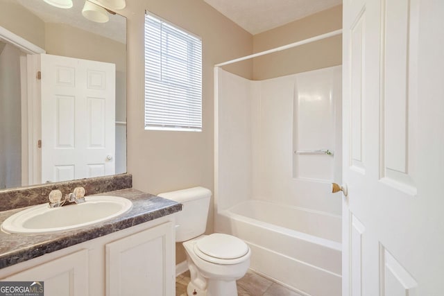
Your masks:
M341 295L341 216L247 200L219 211L215 226L248 243L259 274L302 295Z

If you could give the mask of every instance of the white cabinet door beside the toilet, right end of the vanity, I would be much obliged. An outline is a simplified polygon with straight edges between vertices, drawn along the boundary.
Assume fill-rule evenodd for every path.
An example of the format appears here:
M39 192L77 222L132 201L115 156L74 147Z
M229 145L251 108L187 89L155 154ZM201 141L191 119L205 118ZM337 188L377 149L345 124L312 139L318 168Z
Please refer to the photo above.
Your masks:
M168 222L106 244L106 295L174 295L173 233Z

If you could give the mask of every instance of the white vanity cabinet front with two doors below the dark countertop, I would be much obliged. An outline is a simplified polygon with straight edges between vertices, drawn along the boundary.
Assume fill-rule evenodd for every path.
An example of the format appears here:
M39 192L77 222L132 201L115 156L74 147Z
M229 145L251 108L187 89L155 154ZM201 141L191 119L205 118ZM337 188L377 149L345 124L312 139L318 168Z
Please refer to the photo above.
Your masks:
M169 296L175 291L173 215L0 270L1 281L44 281L45 296Z

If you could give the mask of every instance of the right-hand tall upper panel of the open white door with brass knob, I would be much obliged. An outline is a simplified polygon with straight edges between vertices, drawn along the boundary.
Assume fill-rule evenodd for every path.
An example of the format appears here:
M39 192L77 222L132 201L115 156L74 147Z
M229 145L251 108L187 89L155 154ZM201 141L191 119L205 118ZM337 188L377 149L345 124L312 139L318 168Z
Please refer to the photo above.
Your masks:
M382 0L380 23L379 175L388 186L416 195L417 0Z

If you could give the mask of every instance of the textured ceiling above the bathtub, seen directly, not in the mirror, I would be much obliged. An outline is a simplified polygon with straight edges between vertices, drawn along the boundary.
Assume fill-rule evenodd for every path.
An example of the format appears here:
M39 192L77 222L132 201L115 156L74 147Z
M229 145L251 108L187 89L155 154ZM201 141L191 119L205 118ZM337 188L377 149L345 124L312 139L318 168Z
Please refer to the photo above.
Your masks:
M342 3L342 0L204 1L253 35Z

